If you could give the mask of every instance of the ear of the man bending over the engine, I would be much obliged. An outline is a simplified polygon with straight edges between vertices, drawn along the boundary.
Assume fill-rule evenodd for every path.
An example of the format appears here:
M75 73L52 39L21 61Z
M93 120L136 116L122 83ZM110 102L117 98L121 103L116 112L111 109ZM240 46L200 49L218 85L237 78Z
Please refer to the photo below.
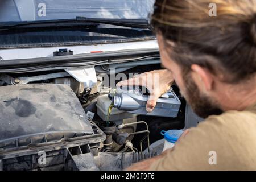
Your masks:
M210 91L213 89L213 75L210 73L210 71L206 68L201 67L197 64L191 65L192 69L192 75L195 79L195 82L198 84L197 86L200 86L204 88L205 91Z

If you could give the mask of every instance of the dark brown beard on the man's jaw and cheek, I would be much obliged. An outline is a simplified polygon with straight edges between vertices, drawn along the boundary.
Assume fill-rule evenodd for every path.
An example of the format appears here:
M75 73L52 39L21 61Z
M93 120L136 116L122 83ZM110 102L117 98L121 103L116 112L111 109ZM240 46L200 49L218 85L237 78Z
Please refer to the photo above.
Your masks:
M185 90L180 91L192 110L201 118L209 115L220 115L223 113L217 101L200 92L189 73L184 73Z

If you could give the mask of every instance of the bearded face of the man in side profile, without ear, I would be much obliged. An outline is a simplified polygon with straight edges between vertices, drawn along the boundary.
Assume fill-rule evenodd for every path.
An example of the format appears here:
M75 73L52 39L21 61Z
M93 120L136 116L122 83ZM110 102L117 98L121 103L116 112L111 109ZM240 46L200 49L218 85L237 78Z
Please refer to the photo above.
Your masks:
M172 72L172 76L176 84L179 86L180 93L183 95L185 100L191 105L193 111L197 115L203 118L207 118L209 115L218 115L222 113L220 106L210 96L207 96L201 88L199 88L191 72L184 73L180 65L176 64L175 61L171 60L169 53L164 47L162 36L158 35L159 51L161 55L162 65L164 68Z

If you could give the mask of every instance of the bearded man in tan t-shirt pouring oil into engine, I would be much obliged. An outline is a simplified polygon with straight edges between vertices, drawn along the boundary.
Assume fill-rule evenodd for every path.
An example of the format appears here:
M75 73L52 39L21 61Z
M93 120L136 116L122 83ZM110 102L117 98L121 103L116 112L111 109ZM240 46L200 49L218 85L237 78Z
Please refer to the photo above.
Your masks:
M209 4L216 2L217 16ZM150 89L147 111L176 82L205 121L189 129L175 147L129 170L256 169L256 0L156 0L152 15L160 71L121 85Z

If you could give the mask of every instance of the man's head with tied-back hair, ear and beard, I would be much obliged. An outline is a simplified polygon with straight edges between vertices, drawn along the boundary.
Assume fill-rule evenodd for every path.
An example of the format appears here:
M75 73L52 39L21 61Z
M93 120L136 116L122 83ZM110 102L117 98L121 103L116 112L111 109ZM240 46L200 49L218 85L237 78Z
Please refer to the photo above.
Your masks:
M256 0L156 0L151 23L163 66L201 117L232 109L230 90L255 80Z

